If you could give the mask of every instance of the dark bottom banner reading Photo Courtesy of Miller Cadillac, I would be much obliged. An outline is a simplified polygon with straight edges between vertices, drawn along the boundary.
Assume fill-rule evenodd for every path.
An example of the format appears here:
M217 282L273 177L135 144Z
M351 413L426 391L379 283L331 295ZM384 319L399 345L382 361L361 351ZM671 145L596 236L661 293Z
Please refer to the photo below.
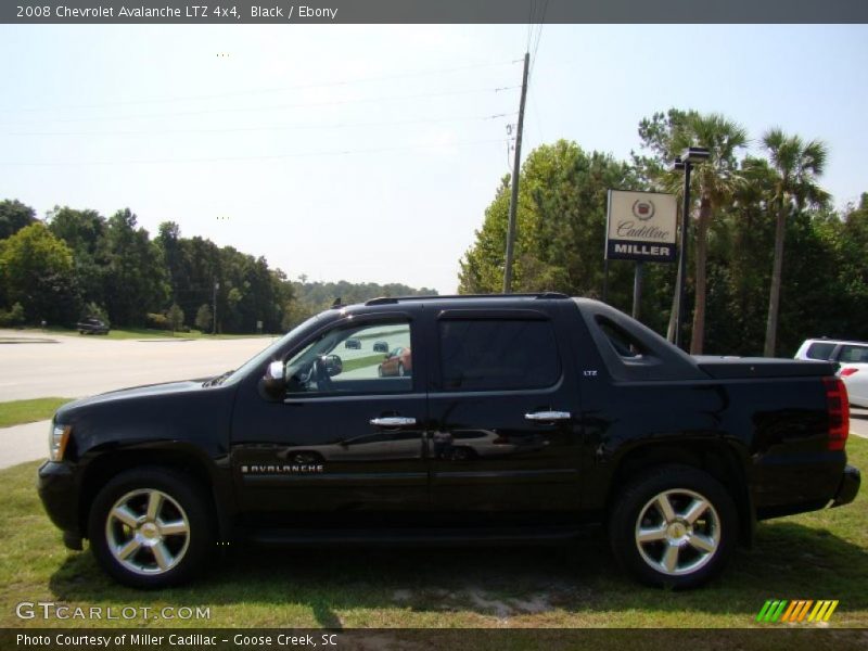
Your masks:
M173 651L238 651L240 649L444 649L502 651L561 649L602 651L673 647L706 651L850 651L868 646L868 633L854 629L775 627L758 629L2 629L0 648L141 649Z

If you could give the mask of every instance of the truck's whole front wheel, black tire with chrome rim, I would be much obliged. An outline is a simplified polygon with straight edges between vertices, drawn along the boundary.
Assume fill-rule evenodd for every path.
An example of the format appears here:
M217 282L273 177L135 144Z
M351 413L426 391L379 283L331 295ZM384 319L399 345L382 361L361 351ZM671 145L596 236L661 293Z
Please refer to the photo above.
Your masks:
M150 520L152 496L158 506ZM115 511L123 511L120 518L113 514L119 506L125 507ZM135 527L125 520L132 516L138 516ZM186 532L170 528L184 525ZM189 477L161 467L129 470L112 478L93 500L88 536L103 570L133 588L165 588L189 580L204 567L216 540L205 490ZM133 551L126 559L118 558L126 547Z

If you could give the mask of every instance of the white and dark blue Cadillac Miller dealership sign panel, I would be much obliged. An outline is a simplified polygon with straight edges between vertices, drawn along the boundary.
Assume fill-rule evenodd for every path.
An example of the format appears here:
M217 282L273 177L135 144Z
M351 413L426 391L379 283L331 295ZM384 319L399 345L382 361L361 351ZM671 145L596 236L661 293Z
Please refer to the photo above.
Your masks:
M675 261L674 194L609 191L605 258Z

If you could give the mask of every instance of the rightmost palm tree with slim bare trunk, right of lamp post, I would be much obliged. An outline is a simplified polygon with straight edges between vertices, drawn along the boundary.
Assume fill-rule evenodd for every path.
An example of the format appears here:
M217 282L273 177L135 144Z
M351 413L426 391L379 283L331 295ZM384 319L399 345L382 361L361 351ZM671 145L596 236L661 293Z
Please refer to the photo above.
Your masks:
M780 308L781 270L783 268L783 238L787 217L801 212L806 205L828 203L829 193L816 180L822 175L828 150L824 142L804 142L799 136L787 136L781 129L770 129L763 136L771 166L777 171L775 190L768 202L775 215L775 264L771 288L768 293L768 321L766 322L766 357L775 356Z

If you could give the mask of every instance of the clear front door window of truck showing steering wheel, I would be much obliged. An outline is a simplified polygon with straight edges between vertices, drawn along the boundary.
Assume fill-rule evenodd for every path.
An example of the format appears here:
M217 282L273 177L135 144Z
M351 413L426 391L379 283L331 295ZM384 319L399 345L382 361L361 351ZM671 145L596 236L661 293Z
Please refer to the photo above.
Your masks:
M289 395L365 395L412 391L407 321L342 326L321 334L284 367Z

